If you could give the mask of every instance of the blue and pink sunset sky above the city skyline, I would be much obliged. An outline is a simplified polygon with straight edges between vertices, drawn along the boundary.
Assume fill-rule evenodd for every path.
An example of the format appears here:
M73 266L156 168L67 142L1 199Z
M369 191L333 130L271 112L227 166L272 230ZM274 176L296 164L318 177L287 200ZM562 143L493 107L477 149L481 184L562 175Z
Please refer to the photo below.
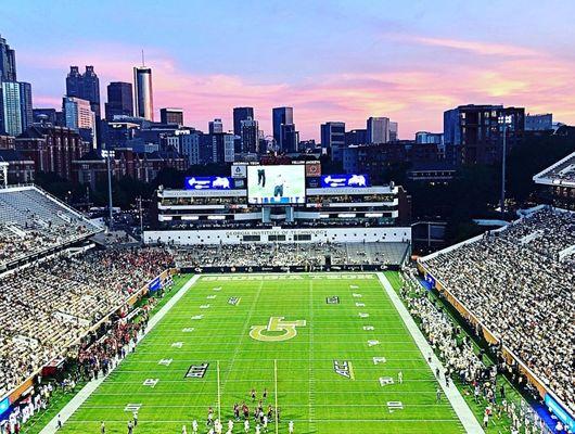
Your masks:
M60 107L71 65L110 81L153 69L154 110L182 107L207 130L253 106L293 106L301 139L320 124L399 123L440 131L459 104L524 106L575 124L575 1L2 0L0 35L36 107Z

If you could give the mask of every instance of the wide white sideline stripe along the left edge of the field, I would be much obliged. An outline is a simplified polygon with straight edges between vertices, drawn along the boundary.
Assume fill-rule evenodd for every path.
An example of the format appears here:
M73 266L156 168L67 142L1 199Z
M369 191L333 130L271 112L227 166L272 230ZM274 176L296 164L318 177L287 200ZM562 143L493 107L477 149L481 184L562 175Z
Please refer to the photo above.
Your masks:
M181 297L186 295L188 290L194 285L194 283L200 279L200 275L195 275L190 278L188 282L184 283L184 285L178 291L162 308L148 321L148 327L145 328L142 336L138 341L138 343L142 342L142 340L145 337L148 333L152 331L152 329L162 319L166 316L166 314L174 307L176 303L180 301ZM138 345L137 345L138 347ZM127 358L127 357L126 357ZM122 360L126 360L126 358ZM122 360L119 360L107 373L112 373L116 368L122 363ZM86 384L80 392L74 396L68 404L60 410L60 418L62 420L62 424L65 425L66 421L78 410L78 408L86 403L86 400L92 395L92 393L102 384L107 375L100 375L98 380L92 380L88 384ZM50 422L40 431L40 434L55 434L58 432L58 414L52 418Z

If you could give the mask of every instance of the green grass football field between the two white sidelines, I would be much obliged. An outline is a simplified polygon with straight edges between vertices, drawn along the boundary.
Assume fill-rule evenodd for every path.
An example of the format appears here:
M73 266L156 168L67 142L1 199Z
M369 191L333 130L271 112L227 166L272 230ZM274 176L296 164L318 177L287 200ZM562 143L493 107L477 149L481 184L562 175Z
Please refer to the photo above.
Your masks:
M328 304L330 296L340 304ZM232 305L231 297L240 302ZM272 317L306 323L268 331ZM270 340L278 336L290 339ZM374 365L374 357L386 361ZM169 366L161 365L163 359L171 359ZM334 361L349 362L352 378L336 373ZM204 378L186 378L192 365L204 362L209 363ZM447 399L436 403L433 373L369 273L200 278L61 432L99 433L105 421L106 433L125 433L129 404L141 405L135 433L180 433L182 424L190 433L193 419L206 432L207 408L218 408L218 365L225 422L234 403L245 400L252 412L250 390L259 398L266 387L266 407L278 398L281 408L280 433L288 432L290 420L298 434L463 432ZM396 382L382 386L381 376ZM148 379L158 381L144 385ZM403 409L391 410L389 401L400 401ZM253 418L251 425L253 433ZM243 432L243 424L235 423L233 432Z

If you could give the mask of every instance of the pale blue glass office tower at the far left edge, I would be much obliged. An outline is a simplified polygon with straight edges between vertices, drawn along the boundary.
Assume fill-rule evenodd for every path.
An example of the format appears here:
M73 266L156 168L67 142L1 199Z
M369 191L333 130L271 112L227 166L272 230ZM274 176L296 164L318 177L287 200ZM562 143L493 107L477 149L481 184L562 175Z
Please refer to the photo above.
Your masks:
M33 123L29 82L2 81L0 87L0 132L21 135Z

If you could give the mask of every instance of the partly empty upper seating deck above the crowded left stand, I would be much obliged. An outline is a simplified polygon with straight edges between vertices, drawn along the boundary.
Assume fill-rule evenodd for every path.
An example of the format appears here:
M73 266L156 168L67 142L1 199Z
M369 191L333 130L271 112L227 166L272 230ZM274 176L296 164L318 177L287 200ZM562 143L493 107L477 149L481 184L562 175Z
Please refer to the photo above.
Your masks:
M100 230L36 187L0 190L0 268Z

